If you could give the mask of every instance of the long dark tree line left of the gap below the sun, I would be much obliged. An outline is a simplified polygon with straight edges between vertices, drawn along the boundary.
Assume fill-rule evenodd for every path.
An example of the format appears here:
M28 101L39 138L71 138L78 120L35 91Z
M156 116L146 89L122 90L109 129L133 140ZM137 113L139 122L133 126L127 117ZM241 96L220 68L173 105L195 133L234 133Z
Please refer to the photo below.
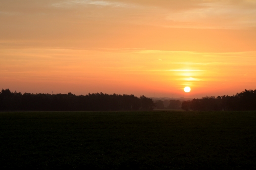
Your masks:
M144 95L92 93L88 95L0 92L0 111L136 111L153 110L154 102Z

